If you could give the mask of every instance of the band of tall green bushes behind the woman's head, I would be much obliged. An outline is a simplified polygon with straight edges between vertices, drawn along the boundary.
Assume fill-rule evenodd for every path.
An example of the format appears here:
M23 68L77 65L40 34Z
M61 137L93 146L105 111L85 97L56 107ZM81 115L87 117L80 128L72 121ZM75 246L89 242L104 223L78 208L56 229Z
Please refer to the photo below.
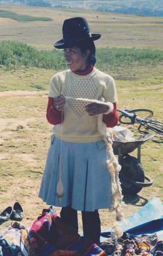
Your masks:
M163 51L108 47L96 50L96 60L96 67L103 71L119 67L149 66L162 63ZM38 51L27 44L11 41L0 42L0 64L5 65L7 69L22 66L55 70L67 68L61 50Z

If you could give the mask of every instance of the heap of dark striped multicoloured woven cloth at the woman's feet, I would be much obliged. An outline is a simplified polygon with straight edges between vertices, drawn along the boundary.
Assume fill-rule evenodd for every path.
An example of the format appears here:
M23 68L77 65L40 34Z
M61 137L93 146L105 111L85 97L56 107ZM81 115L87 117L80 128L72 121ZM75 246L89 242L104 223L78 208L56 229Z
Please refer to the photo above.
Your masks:
M101 256L106 255L99 246L67 226L57 216L54 207L44 209L29 230L32 249L39 256Z

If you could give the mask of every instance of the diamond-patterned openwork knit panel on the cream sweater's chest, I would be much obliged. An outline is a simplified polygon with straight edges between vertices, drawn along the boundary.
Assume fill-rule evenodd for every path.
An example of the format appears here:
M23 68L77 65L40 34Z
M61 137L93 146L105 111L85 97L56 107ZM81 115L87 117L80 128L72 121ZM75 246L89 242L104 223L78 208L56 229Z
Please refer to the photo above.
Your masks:
M96 99L97 85L92 77L75 77L69 76L67 86L64 88L64 94L72 98ZM85 113L86 101L68 99L72 110L81 117Z

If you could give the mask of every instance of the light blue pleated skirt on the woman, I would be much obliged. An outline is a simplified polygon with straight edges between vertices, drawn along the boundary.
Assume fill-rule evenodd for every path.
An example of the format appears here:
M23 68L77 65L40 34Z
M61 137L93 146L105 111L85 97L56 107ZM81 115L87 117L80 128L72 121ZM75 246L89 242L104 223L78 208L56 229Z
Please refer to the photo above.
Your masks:
M58 198L56 187L60 177L64 196ZM110 175L107 169L104 141L73 143L52 135L39 197L48 205L68 206L79 211L111 207Z

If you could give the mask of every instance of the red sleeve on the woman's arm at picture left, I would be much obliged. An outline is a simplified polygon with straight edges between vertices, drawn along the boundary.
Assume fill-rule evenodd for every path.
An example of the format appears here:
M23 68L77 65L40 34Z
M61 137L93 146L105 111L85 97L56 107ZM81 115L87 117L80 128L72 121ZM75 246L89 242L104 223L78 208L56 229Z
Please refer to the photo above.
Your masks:
M53 106L53 98L48 98L46 118L50 124L56 125L62 123L62 112L55 110Z

